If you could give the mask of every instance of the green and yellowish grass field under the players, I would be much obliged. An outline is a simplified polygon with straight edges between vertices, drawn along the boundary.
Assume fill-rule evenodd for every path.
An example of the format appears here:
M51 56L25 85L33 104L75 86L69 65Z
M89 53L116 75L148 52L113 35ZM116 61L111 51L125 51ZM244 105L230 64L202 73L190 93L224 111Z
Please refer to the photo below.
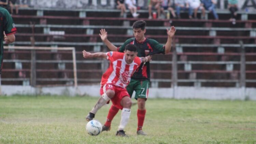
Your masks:
M126 133L116 137L120 112L109 132L90 136L85 116L97 98L65 96L0 96L0 143L256 144L256 101L149 99L143 130L137 136L137 106ZM105 122L110 105L96 118Z

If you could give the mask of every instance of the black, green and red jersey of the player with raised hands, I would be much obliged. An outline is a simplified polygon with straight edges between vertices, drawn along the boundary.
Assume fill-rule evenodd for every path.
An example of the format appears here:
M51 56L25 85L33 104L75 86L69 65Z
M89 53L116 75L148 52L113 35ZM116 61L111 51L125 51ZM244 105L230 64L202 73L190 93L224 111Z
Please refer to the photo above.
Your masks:
M118 47L118 52L124 52L127 44L134 44L137 46L138 57L146 57L153 54L165 54L165 46L159 44L156 40L146 38L143 42L136 41L135 38L130 38L125 43ZM150 63L146 62L141 64L136 72L132 75L132 78L139 80L150 80Z

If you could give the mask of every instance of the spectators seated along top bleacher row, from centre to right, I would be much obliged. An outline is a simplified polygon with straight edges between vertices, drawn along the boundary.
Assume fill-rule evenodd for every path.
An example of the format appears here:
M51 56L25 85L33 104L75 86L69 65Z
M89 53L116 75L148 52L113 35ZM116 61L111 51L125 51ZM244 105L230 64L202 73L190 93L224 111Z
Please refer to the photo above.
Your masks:
M212 13L214 19L218 19L216 12L216 0L145 0L148 4L148 18L181 18L181 11L187 11L189 19L197 19L197 12L201 11L202 19L205 19L205 10ZM133 17L138 17L136 0L116 0L116 8L121 10L120 17L124 16L128 8ZM155 12L152 13L152 10ZM238 0L228 0L228 9L231 12L230 20L236 20ZM165 10L168 12L165 13ZM175 11L174 11L175 10ZM153 15L153 16L152 16Z

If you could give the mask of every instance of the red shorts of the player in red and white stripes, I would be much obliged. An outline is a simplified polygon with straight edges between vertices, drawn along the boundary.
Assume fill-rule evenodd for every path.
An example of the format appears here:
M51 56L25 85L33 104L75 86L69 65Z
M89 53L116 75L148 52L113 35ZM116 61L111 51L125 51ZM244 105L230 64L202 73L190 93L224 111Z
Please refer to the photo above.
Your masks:
M111 99L112 104L117 107L118 109L122 110L123 106L121 105L121 100L125 96L129 96L129 93L125 88L122 87L117 87L112 84L105 84L100 88L100 95L103 95L104 92L106 92L108 89L114 90L115 91L115 96Z

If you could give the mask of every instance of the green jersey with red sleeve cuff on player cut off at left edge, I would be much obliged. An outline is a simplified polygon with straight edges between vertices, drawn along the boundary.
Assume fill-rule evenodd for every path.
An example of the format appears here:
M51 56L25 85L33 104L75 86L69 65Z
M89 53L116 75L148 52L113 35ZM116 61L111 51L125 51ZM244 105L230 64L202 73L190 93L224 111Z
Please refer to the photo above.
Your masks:
M4 41L4 35L3 32L5 32L6 35L11 35L17 32L17 29L15 27L15 24L13 22L13 19L9 12L0 7L0 41L1 41L1 51L0 51L0 73L3 66L3 41Z

